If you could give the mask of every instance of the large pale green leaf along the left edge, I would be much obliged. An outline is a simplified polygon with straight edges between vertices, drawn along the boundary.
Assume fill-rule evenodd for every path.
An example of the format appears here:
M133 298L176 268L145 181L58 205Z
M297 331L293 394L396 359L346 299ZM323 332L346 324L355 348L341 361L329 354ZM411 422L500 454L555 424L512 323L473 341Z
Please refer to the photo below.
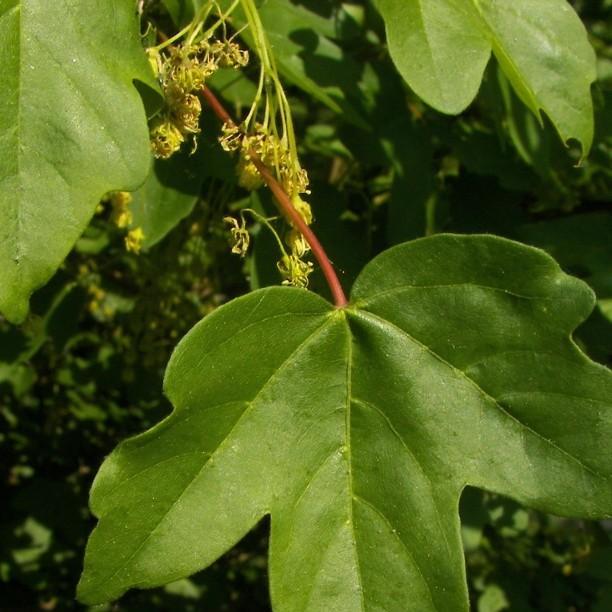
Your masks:
M0 312L14 322L105 192L151 155L134 79L155 85L130 0L0 0Z

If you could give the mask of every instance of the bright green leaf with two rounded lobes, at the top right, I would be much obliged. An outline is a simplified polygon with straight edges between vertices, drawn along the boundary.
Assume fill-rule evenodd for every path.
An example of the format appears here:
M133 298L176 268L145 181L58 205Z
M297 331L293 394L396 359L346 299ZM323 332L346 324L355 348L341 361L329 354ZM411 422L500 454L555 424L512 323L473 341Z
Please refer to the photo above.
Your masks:
M376 0L389 51L428 104L461 112L491 53L523 102L586 155L593 141L595 52L567 0Z

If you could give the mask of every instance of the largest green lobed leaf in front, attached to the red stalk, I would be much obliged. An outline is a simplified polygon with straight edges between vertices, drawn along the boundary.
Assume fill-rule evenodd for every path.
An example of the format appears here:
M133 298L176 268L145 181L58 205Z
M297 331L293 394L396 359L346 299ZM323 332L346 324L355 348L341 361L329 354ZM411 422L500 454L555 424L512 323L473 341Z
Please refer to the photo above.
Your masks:
M171 359L174 412L96 478L80 598L191 574L270 514L275 610L467 610L466 485L612 514L612 375L571 340L593 303L542 251L441 235L344 309L280 287L219 308Z

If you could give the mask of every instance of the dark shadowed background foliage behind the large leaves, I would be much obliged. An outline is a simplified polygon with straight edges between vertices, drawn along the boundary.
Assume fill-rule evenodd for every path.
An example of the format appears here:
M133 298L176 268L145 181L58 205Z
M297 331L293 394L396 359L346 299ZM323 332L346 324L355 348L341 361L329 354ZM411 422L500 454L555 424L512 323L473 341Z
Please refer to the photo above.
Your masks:
M294 15L310 11L327 20L325 36L360 67L352 73L357 97L351 103L368 129L288 88L303 163L315 182L315 228L327 236L327 247L336 236L347 236L334 253L345 288L374 254L426 233L493 232L531 242L559 258L565 271L593 281L598 306L575 338L589 355L611 363L612 323L601 282L612 269L605 230L612 193L610 3L573 3L597 51L599 73L593 88L596 135L580 168L579 153L562 146L553 126L542 130L516 94L506 104L494 65L470 108L457 119L447 117L405 87L371 6L293 4L299 7ZM158 2L145 2L143 23L149 20L172 31ZM292 27L307 29L299 21ZM287 37L295 42L292 31ZM256 66L241 79L228 76L216 91L235 116L243 116ZM24 324L15 328L0 319L0 599L9 609L86 609L74 591L92 527L87 493L93 474L119 440L167 414L161 379L178 338L253 281L252 262L243 272L242 262L228 253L222 217L254 204L236 188L232 161L215 143L216 121L204 115L200 147L206 163L192 213L146 256L136 257L125 253L123 235L104 210L52 283L35 294ZM531 120L531 150L545 154L523 155L526 140L513 124L525 117ZM260 195L265 199L265 192ZM254 259L274 277L277 253L259 248L265 240L260 232ZM29 355L28 347L38 348ZM468 497L471 505L463 503ZM50 505L62 512L41 511ZM494 599L489 593L500 592L493 603L505 599L506 609L610 609L607 522L562 521L473 489L463 494L461 513L463 535L467 527L475 534L470 541L464 537L474 610L499 609L485 606ZM267 612L268 532L264 520L204 572L130 591L113 608ZM40 533L50 539L46 549L39 546Z

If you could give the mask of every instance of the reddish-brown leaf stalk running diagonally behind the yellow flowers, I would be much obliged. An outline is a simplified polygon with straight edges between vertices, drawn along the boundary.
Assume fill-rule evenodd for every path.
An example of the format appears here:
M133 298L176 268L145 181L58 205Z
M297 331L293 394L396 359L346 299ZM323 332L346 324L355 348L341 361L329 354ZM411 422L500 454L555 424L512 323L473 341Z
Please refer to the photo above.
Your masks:
M215 96L215 94L210 91L208 87L202 87L201 93L212 111L223 123L235 125L235 122L225 110L217 96ZM272 192L280 211L289 220L291 225L297 228L302 236L304 236L306 242L308 242L310 249L312 250L312 254L315 256L315 259L321 267L323 276L325 277L325 280L329 286L329 290L331 291L334 299L334 304L337 308L343 308L348 304L348 300L346 299L344 290L342 289L342 285L338 279L338 275L336 274L336 271L334 270L325 249L319 242L319 239L315 236L314 232L294 208L293 204L291 203L291 198L283 189L283 186L272 175L266 165L259 159L259 157L252 153L251 160L255 164L259 174L261 174L264 182Z

